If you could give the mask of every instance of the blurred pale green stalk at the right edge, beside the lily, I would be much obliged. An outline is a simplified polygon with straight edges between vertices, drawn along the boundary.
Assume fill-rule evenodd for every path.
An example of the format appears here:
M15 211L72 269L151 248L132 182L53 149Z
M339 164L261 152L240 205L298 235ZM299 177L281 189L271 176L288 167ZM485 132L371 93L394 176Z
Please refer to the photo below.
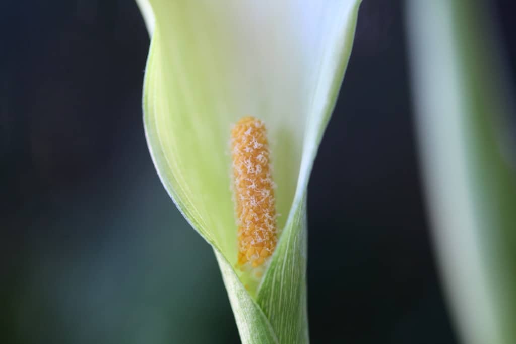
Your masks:
M516 168L489 10L407 1L434 241L462 341L516 342Z

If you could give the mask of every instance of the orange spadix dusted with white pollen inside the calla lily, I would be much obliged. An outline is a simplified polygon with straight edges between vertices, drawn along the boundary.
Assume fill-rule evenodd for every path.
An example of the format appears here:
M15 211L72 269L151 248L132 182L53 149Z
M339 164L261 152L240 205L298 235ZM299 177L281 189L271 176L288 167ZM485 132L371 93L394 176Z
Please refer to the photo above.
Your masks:
M263 122L241 118L231 130L233 182L238 224L237 265L259 267L277 242L269 147Z

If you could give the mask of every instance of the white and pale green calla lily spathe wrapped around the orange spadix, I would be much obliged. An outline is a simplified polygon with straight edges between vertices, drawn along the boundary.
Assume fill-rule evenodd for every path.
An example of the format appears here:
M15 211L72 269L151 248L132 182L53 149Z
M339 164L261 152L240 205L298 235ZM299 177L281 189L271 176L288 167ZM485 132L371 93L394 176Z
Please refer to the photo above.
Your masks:
M351 53L360 0L138 5L152 36L143 112L159 177L213 246L241 340L307 343L307 185ZM280 233L254 285L235 269L230 189L231 125L247 115L267 128Z

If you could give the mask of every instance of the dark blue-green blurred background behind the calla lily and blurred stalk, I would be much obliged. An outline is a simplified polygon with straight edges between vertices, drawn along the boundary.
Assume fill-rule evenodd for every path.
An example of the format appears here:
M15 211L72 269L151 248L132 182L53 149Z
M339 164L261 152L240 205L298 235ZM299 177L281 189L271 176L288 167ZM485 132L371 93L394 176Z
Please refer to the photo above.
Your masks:
M493 2L516 80L511 1ZM431 247L400 1L364 0L309 185L314 343L457 343ZM0 4L0 342L238 343L143 135L133 1Z

